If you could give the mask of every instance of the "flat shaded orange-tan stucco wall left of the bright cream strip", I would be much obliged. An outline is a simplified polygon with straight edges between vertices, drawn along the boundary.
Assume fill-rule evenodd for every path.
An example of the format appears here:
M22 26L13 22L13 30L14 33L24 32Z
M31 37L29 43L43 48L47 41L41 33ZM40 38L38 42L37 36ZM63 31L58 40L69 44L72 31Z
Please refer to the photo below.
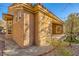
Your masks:
M22 19L16 21L16 13L14 13L13 19L13 40L19 44L21 47L24 43L24 20Z

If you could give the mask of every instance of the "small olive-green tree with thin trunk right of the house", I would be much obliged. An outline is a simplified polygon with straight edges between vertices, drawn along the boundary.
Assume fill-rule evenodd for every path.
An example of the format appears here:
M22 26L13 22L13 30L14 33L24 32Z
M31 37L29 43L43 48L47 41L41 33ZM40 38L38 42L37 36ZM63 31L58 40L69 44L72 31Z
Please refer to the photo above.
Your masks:
M70 42L70 45L76 40L77 31L75 30L75 28L79 26L78 19L79 17L77 16L77 14L70 14L65 22L67 35L66 40Z

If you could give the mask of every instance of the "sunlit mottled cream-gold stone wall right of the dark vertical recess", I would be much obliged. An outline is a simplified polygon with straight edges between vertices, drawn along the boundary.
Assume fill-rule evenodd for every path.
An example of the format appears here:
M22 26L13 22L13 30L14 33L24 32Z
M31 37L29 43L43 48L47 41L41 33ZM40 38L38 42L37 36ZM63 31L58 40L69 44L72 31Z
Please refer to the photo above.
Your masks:
M39 19L37 20L40 46L46 46L48 45L46 41L52 38L52 20L42 12L39 12Z

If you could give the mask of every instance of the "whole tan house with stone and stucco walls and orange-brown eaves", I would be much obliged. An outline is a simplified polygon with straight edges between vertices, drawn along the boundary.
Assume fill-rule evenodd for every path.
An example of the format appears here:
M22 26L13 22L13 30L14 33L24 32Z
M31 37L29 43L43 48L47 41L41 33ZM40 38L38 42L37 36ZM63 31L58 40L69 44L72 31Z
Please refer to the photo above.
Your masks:
M42 4L14 3L3 14L6 21L6 38L11 38L19 46L46 46L46 40L53 35L63 34L63 21L52 14Z

